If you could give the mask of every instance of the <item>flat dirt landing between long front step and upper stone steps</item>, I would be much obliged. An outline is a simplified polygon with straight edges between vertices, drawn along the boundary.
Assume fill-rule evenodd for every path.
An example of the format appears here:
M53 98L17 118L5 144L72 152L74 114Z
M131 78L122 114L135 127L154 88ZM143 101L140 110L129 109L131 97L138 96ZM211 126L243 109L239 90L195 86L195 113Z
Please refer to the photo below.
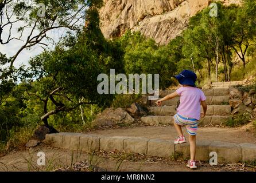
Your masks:
M188 136L186 129L183 128L185 136ZM97 129L88 134L104 134L106 136L133 136L146 138L161 138L174 140L177 137L173 126L139 126L134 128L119 129ZM217 128L200 127L197 132L197 141L224 141L236 143L256 144L256 135L248 131L248 128Z

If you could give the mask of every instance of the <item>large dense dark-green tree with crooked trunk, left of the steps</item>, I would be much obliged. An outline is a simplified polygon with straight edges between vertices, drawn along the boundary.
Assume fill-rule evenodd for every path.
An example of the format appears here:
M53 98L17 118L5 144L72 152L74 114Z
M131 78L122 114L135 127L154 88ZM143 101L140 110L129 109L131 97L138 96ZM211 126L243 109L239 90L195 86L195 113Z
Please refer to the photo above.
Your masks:
M30 77L37 80L29 82L28 94L42 102L41 120L46 126L48 118L57 113L71 112L81 105L107 106L113 100L113 95L97 92L97 77L109 73L110 68L123 71L122 51L117 42L104 39L97 3L90 5L82 32L68 35L54 51L45 51L30 61Z

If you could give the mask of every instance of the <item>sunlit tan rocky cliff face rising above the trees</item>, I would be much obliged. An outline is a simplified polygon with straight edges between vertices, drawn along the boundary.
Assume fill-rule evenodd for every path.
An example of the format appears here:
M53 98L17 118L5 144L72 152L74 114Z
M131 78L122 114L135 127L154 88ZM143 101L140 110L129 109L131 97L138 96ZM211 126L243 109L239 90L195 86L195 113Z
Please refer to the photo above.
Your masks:
M229 5L241 0L222 2ZM119 37L130 29L166 44L185 29L189 17L210 3L210 0L104 0L100 9L101 29L106 38Z

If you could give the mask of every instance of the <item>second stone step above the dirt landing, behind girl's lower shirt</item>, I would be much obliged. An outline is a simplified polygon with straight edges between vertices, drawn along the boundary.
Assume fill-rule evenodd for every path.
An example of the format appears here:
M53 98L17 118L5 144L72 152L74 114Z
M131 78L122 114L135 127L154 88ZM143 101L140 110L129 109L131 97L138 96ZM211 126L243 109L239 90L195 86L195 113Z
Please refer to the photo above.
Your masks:
M172 116L177 113L176 106L149 107L149 112L154 115ZM201 112L203 108L201 107ZM228 115L231 114L230 105L208 105L206 115Z

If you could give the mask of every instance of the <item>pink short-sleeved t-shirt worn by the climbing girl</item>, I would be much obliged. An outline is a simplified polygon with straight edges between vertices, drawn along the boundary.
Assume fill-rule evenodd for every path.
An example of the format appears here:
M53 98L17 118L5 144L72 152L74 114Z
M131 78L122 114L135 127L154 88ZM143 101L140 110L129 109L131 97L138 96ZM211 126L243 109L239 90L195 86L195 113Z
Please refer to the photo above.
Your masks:
M203 91L197 87L181 86L176 92L180 96L180 105L177 109L177 113L184 117L200 120L200 101L206 100Z

